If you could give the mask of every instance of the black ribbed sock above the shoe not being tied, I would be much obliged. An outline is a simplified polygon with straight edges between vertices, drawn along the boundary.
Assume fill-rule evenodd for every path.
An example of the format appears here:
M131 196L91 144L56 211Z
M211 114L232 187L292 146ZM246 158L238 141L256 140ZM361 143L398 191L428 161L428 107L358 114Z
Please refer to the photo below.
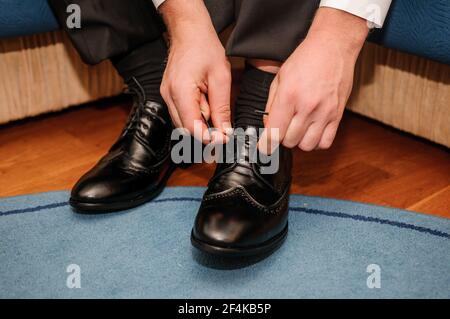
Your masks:
M147 101L164 104L159 93L167 57L163 38L146 43L133 51L111 59L129 89L142 86Z

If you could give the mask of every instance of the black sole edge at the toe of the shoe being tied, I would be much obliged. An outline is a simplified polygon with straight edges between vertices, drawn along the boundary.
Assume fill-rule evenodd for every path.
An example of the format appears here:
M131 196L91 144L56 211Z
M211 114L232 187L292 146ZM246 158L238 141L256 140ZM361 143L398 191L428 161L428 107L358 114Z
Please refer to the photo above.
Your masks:
M265 255L274 252L283 244L286 236L288 234L288 225L277 234L275 237L269 239L258 246L252 247L221 247L216 245L211 245L204 241L199 240L191 232L191 243L192 245L199 249L200 251L207 253L209 255L215 255L219 257L250 257L257 255Z

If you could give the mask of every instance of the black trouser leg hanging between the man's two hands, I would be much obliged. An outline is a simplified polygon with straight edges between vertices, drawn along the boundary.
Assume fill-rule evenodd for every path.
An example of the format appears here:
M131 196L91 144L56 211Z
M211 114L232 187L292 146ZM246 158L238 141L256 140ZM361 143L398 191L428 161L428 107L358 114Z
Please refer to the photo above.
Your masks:
M227 55L285 61L305 38L319 0L205 0L218 32L234 22Z

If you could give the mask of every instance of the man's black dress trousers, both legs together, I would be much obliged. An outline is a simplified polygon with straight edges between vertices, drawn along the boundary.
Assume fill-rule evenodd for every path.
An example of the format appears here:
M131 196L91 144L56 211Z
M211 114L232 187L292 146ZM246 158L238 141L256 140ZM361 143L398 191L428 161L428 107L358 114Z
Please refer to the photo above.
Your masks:
M48 0L84 61L131 52L158 39L164 24L149 0ZM81 29L68 29L67 5L81 8ZM205 0L218 32L235 22L227 54L284 61L306 36L319 0Z

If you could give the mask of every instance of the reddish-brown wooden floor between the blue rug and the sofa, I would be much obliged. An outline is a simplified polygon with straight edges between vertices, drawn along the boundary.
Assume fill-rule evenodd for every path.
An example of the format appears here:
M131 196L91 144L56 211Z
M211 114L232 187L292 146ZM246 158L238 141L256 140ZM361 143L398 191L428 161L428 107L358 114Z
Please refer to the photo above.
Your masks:
M0 196L70 189L122 129L115 99L0 126ZM205 186L213 165L178 170L169 185ZM328 151L295 151L293 193L450 218L450 154L352 113Z

